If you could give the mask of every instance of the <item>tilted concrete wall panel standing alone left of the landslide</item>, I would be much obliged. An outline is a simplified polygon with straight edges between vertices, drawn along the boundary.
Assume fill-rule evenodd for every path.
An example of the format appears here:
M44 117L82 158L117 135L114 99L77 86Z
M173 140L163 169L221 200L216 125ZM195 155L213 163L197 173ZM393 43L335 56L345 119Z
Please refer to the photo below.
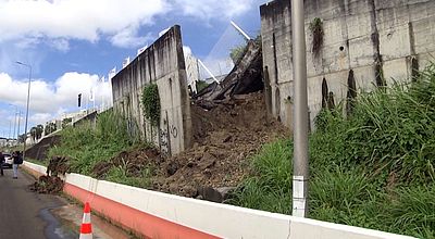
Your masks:
M144 87L157 84L160 126L144 116ZM179 26L175 25L112 78L113 108L130 130L153 142L163 153L175 154L191 143L190 102Z

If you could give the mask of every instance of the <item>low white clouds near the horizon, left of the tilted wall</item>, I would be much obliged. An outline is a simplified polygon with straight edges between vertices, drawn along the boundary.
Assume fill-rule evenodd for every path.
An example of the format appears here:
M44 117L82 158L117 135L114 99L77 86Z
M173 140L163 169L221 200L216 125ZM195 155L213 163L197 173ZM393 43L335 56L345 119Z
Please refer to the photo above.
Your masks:
M35 79L30 85L29 120L33 124L45 123L67 111L78 111L77 96L83 95L83 105L90 102L90 89L95 90L96 106L112 98L112 89L108 81L99 81L98 75L86 73L65 73L54 83ZM0 102L25 109L27 99L27 80L16 80L0 73ZM7 90L3 90L7 89ZM12 109L12 108L11 108Z

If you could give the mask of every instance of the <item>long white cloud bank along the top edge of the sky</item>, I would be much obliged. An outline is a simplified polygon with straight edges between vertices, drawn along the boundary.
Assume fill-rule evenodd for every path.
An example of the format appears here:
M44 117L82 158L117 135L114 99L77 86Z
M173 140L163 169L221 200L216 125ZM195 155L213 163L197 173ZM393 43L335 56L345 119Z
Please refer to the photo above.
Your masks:
M105 38L116 47L135 48L149 39L138 36L138 29L152 25L158 15L227 21L257 1L0 0L0 42L18 40L21 47L28 47L48 38L53 39L53 48L67 51L70 39L96 42Z

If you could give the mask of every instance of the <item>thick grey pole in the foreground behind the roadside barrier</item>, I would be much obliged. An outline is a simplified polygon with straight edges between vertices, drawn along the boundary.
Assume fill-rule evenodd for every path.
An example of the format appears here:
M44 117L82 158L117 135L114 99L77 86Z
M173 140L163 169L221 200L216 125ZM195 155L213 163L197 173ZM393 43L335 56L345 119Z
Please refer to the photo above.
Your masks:
M293 215L308 216L308 99L303 0L291 0L295 77Z

